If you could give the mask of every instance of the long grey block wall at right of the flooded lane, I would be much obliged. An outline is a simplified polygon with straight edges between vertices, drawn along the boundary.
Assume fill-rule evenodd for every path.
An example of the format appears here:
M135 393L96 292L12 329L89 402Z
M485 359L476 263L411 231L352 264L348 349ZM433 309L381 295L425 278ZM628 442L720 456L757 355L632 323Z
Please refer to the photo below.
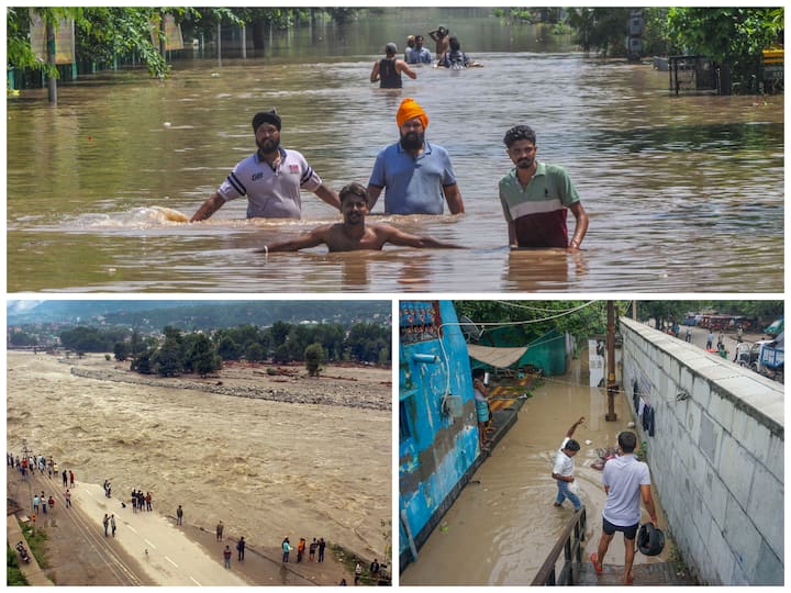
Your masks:
M783 387L621 318L623 384L668 528L702 583L783 584Z

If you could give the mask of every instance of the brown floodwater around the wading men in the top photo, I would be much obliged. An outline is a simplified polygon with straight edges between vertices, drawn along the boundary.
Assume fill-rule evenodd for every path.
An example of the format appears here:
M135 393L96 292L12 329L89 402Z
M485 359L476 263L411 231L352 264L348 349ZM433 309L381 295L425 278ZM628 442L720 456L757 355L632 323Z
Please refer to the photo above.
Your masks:
M45 90L9 99L9 291L783 290L783 96L673 97L647 63L598 59L569 36L483 13L394 10L221 65L190 52L166 81L82 77L57 108ZM400 91L369 83L386 42L402 48L443 21L482 68L419 67ZM244 220L245 200L196 224L156 208L191 215L254 152L252 116L272 107L283 146L331 188L367 183L405 97L449 152L466 214L385 216L380 200L372 220L468 249L264 257L253 249L338 213L309 193L301 221ZM498 180L512 167L503 134L519 123L579 190L581 254L506 246Z

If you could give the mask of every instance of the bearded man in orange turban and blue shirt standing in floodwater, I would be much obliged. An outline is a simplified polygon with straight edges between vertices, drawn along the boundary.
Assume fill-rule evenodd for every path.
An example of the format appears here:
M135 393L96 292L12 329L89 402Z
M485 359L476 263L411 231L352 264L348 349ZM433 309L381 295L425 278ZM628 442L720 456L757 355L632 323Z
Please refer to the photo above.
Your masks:
M368 180L370 210L385 190L386 214L464 213L461 192L445 148L425 139L428 116L412 98L396 113L401 138L377 155Z

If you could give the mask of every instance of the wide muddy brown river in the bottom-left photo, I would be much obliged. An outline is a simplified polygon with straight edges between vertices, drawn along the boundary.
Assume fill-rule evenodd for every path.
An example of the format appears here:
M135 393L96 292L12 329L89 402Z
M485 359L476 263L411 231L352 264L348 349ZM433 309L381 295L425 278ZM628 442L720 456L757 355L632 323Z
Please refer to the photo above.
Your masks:
M19 455L25 438L32 452L74 470L78 484L110 480L113 497L123 500L133 488L151 491L155 511L174 515L181 504L186 523L213 532L222 519L226 534L245 535L254 546L279 545L286 535L324 537L382 557L380 522L391 517L389 409L110 382L76 377L71 366L115 368L103 357L58 361L8 353L9 451ZM322 379L327 392L390 399L389 369L326 373L355 378ZM272 384L310 389L299 380Z

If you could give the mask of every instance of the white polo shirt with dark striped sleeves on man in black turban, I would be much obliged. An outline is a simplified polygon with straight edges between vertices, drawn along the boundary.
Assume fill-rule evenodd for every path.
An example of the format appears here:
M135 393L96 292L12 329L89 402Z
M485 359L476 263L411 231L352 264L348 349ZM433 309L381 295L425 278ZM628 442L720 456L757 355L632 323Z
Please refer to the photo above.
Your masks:
M272 169L258 153L234 167L218 188L225 200L247 197L247 217L299 219L302 213L300 189L315 191L321 178L297 150L279 148L280 164Z

